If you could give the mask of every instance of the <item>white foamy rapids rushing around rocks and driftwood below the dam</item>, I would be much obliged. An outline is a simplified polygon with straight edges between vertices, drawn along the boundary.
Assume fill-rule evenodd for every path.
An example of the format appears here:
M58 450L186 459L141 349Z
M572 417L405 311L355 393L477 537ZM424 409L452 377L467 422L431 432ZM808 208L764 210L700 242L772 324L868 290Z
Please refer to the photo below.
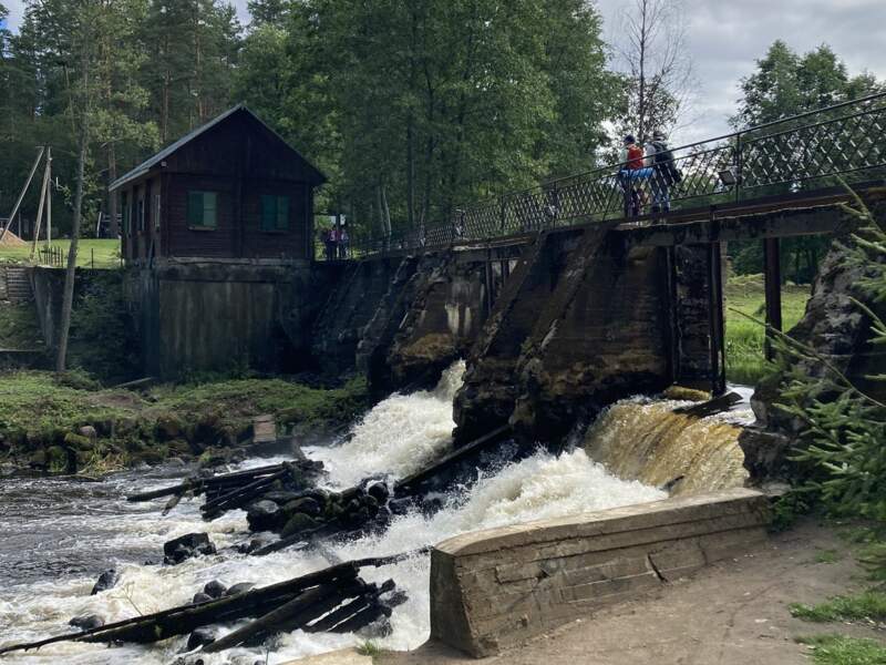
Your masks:
M352 437L338 447L310 449L309 454L322 459L330 472L330 483L348 485L365 475L406 474L440 454L450 443L452 398L461 383L464 366L457 364L446 371L433 391L410 396L394 395L369 413L353 428ZM256 462L253 462L256 463ZM268 460L260 460L268 463ZM45 483L35 483L32 494L51 493ZM40 483L44 483L40 485ZM47 516L29 528L42 529L51 523L54 531L69 533L70 538L49 539L43 546L52 549L53 556L66 554L80 559L106 556L117 552L116 561L102 559L99 565L115 565L122 572L116 587L95 596L90 590L95 581L94 571L86 574L47 574L39 580L18 583L0 565L0 644L33 641L68 632L65 625L72 616L96 613L106 622L146 614L189 602L190 597L210 580L226 585L255 582L257 585L295 577L339 561L361 556L395 554L434 544L463 533L556 518L567 514L640 503L662 499L664 493L639 482L627 482L610 475L590 460L584 450L559 458L538 452L517 463L502 468L494 475L483 477L471 489L447 498L443 510L433 516L411 513L398 518L381 535L368 536L343 544L334 544L310 552L278 552L264 557L250 557L233 551L218 555L188 560L177 566L142 565L145 552L159 559L163 543L171 538L194 531L208 531L219 551L240 540L248 539L245 514L228 513L214 522L203 522L197 502L179 504L166 518L159 511L163 501L151 504L127 504L123 492L132 490L133 478L112 479L102 483L103 492L90 497L92 509L59 511L61 516ZM140 487L161 487L168 479L142 481ZM66 490L56 483L60 494ZM2 499L2 498L0 498ZM82 509L82 510L81 510ZM54 514L48 510L47 514ZM13 533L21 528L16 515L0 516L2 532ZM80 533L84 535L79 536ZM82 542L80 542L82 540ZM137 552L137 554L134 554ZM76 556L74 556L76 554ZM48 557L48 561L50 557ZM0 554L0 564L4 563ZM21 564L19 564L21 565ZM409 601L393 612L393 633L378 641L387 648L414 648L427 638L430 559L416 556L381 569L363 569L367 581L393 579L398 587L409 594ZM230 626L226 630L230 630ZM39 652L12 654L10 663L72 665L123 665L145 663L167 665L184 651L186 637L178 637L153 646L120 646L106 648L89 644L56 644ZM274 653L267 654L269 664L331 651L360 642L353 635L310 635L301 631L279 638ZM229 649L225 654L203 656L208 664L253 665L264 662L260 649Z

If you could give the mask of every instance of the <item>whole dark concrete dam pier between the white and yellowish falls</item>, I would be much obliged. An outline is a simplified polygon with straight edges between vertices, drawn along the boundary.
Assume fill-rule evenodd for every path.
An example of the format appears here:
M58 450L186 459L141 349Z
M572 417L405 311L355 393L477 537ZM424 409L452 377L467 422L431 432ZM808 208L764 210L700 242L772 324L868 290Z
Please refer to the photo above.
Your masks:
M456 397L456 443L509 420L553 442L576 421L672 382L667 253L612 225L543 235L505 286Z

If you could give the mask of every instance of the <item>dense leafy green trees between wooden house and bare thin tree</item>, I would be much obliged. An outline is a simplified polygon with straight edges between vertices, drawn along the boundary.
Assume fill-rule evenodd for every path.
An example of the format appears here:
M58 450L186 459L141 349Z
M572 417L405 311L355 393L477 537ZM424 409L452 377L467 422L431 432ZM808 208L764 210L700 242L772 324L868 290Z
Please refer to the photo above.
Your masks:
M237 82L330 176L319 205L364 227L591 166L618 92L581 0L292 3L246 39Z

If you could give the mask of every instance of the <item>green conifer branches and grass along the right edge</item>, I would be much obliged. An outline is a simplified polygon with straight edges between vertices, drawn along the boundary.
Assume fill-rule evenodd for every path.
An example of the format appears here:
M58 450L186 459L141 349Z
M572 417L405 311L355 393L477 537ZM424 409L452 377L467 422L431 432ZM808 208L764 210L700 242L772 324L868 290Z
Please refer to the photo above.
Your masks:
M848 300L869 330L873 348L886 345L886 229L883 211L875 215L855 198L854 212L863 227L842 249L838 269L849 284ZM859 623L883 626L886 622L886 403L882 401L886 375L875 368L839 365L839 357L825 356L787 336L776 340L779 379L775 419L794 428L796 441L789 460L793 489L780 502L783 514L820 511L862 524L856 531L864 542L858 556L869 571L868 589L846 593L816 605L792 605L795 616L814 622ZM770 379L767 379L770 380ZM870 640L826 635L805 641L820 665L886 663L886 647Z

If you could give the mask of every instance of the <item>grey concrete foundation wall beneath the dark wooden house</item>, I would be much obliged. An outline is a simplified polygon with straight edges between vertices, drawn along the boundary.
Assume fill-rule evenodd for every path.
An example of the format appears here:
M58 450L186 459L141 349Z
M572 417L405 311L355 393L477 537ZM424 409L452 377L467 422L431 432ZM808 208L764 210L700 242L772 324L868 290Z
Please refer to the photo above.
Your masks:
M308 262L169 259L132 270L127 295L145 371L310 367L310 325L334 278Z

